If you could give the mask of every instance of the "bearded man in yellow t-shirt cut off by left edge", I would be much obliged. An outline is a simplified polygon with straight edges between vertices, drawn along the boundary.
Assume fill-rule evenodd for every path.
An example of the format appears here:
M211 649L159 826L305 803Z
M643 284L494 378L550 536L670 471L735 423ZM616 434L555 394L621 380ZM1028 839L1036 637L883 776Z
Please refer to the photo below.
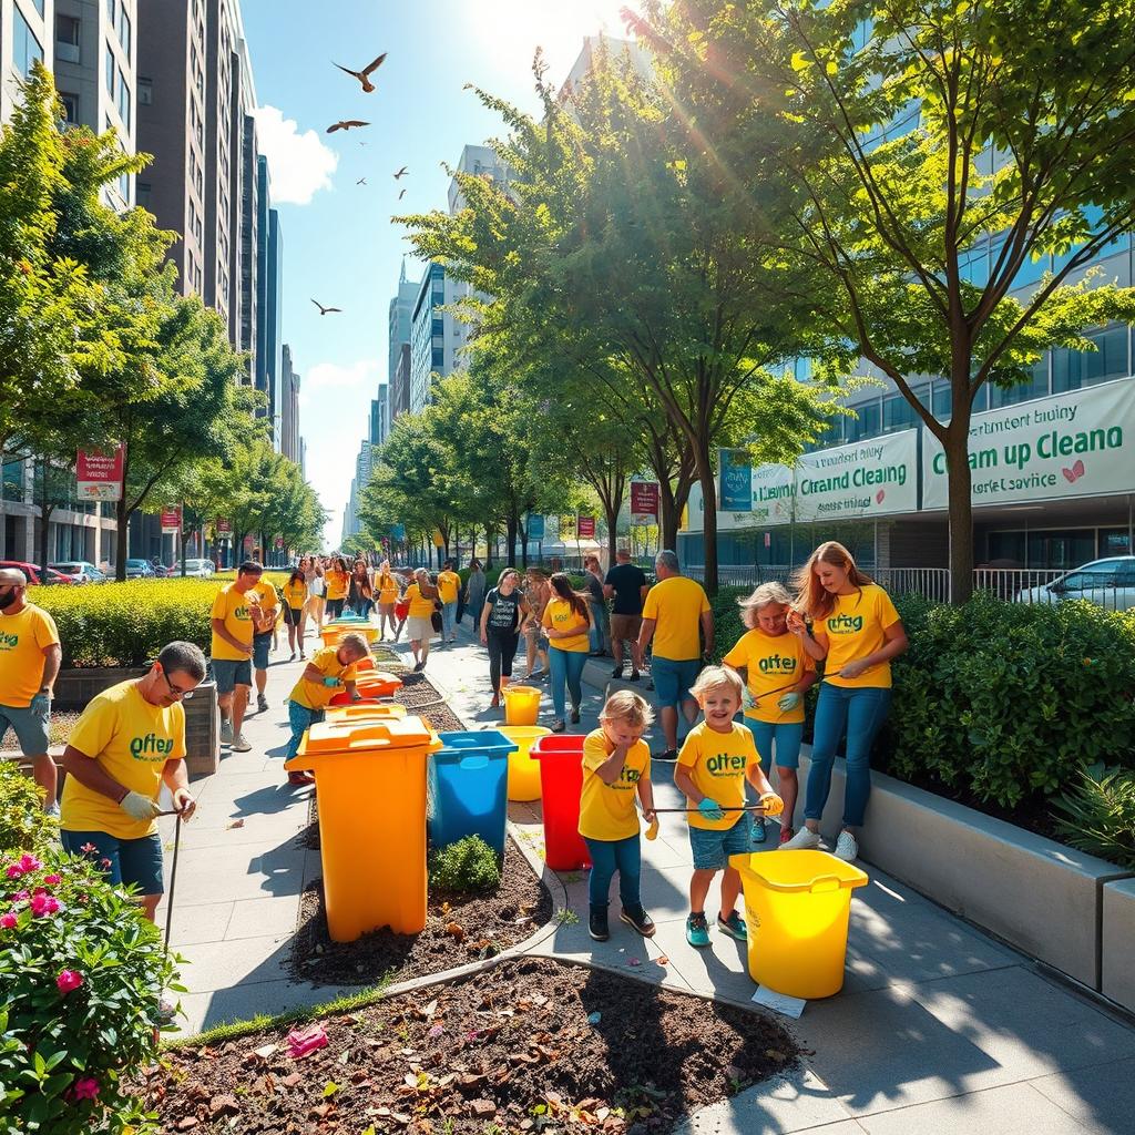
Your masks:
M43 789L43 809L52 816L59 808L48 747L51 691L61 659L54 620L27 602L27 578L15 568L0 570L0 740L10 725Z

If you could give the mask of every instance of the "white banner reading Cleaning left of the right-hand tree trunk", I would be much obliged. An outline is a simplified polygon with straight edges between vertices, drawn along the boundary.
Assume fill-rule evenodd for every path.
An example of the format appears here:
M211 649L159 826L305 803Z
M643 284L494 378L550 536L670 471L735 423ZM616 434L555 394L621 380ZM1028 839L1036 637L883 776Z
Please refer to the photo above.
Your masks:
M918 507L918 434L903 430L796 463L798 521L873 520Z

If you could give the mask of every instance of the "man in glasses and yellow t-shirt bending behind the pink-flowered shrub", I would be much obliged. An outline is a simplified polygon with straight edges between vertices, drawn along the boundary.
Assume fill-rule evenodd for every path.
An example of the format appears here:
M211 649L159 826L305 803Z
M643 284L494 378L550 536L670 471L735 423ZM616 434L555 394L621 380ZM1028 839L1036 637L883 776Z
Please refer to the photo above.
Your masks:
M158 793L165 784L182 818L193 815L182 701L204 676L200 647L170 642L143 678L91 699L64 750L64 849L89 856L111 883L136 885L151 920L165 890Z

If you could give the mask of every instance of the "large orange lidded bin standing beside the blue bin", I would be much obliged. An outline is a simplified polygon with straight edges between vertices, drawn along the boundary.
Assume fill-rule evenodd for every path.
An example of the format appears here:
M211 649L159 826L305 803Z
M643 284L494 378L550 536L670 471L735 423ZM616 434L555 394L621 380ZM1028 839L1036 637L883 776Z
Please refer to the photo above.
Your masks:
M353 942L426 927L426 760L442 748L420 717L323 722L284 767L316 776L327 928Z

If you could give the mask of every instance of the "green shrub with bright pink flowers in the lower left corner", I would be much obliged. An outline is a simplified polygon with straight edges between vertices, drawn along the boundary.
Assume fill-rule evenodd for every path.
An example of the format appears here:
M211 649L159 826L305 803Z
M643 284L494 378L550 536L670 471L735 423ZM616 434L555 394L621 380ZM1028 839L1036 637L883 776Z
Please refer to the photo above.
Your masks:
M124 1087L173 984L128 893L58 848L0 857L0 1132L153 1130Z

